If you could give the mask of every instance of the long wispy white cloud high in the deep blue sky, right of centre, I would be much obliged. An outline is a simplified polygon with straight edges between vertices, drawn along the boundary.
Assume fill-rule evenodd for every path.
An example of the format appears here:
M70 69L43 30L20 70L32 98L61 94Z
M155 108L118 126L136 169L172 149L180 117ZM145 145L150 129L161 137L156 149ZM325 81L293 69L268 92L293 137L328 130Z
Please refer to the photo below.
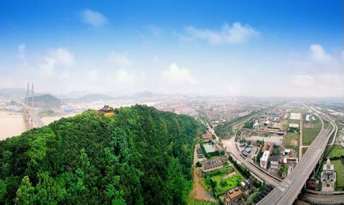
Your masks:
M201 39L208 41L211 44L235 44L246 43L252 37L258 36L259 32L250 25L241 25L239 22L235 22L232 25L225 23L222 29L209 30L209 29L197 29L192 26L185 28L187 36L183 39L193 40Z

